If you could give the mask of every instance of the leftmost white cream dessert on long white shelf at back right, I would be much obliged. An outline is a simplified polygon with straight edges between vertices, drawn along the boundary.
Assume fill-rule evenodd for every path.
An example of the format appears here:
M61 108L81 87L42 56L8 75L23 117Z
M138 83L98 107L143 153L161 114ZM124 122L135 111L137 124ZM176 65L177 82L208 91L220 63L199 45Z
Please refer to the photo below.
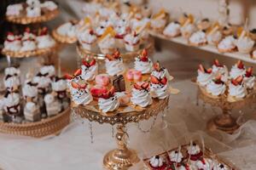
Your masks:
M165 30L163 31L163 34L166 37L178 37L181 34L181 25L179 22L172 22L168 26L166 26Z

